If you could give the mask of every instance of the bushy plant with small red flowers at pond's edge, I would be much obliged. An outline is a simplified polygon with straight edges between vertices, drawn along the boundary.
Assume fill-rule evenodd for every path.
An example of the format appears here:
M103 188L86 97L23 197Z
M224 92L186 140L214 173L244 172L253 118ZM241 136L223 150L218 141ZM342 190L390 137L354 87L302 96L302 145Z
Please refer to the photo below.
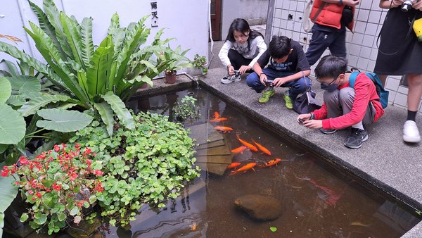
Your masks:
M1 176L15 177L25 201L34 204L20 220L31 218L34 229L48 224L48 233L52 234L66 223L77 224L84 219L82 208L92 206L96 195L103 191L102 165L94 160L95 156L88 147L61 144L34 160L23 156L18 163L4 166ZM92 213L88 218L94 216Z

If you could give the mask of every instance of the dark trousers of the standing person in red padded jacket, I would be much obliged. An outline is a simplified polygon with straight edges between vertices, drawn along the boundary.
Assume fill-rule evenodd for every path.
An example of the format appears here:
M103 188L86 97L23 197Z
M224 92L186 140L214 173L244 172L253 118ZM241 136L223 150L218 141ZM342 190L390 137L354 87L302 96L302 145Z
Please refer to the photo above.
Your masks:
M341 27L340 30L333 28L329 32L317 28L315 25L312 27L312 39L305 53L309 65L314 65L327 47L331 55L346 58L346 28Z

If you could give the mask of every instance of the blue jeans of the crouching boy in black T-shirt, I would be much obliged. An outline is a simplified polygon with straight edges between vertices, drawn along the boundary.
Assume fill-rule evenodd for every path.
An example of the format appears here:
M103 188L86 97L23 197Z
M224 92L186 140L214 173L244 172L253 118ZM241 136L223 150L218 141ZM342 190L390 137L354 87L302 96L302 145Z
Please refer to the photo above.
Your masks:
M275 80L276 77L286 77L288 75L294 74L290 72L287 73L279 70L273 70L271 68L264 68L262 72L267 75L268 80ZM262 92L262 90L264 90L265 88L265 86L262 85L260 81L260 77L255 72L251 73L250 75L248 75L248 77L246 77L246 83L257 93ZM304 93L307 88L311 87L311 80L309 79L309 77L300 77L300 79L298 80L282 84L281 87L290 87L290 89L288 90L288 95L291 99L296 99L299 94Z

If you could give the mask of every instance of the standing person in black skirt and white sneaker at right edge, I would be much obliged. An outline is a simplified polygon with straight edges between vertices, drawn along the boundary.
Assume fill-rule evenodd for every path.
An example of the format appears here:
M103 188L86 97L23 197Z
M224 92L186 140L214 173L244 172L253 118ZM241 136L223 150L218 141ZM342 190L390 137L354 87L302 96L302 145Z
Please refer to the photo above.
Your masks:
M390 8L381 30L375 69L378 75L407 75L407 119L403 126L404 142L421 141L416 113L422 98L422 42L418 42L413 23L422 18L422 0L381 0L381 8ZM402 9L405 8L405 9ZM407 9L409 10L407 11Z

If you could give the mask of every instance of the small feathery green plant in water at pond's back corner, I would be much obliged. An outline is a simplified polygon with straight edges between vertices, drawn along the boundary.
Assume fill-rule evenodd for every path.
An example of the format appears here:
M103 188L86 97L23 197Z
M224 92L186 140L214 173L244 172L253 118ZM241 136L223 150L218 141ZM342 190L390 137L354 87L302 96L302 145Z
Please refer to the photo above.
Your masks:
M200 108L196 104L196 98L193 96L184 96L173 107L174 118L184 122L186 120L193 121L200 118Z

